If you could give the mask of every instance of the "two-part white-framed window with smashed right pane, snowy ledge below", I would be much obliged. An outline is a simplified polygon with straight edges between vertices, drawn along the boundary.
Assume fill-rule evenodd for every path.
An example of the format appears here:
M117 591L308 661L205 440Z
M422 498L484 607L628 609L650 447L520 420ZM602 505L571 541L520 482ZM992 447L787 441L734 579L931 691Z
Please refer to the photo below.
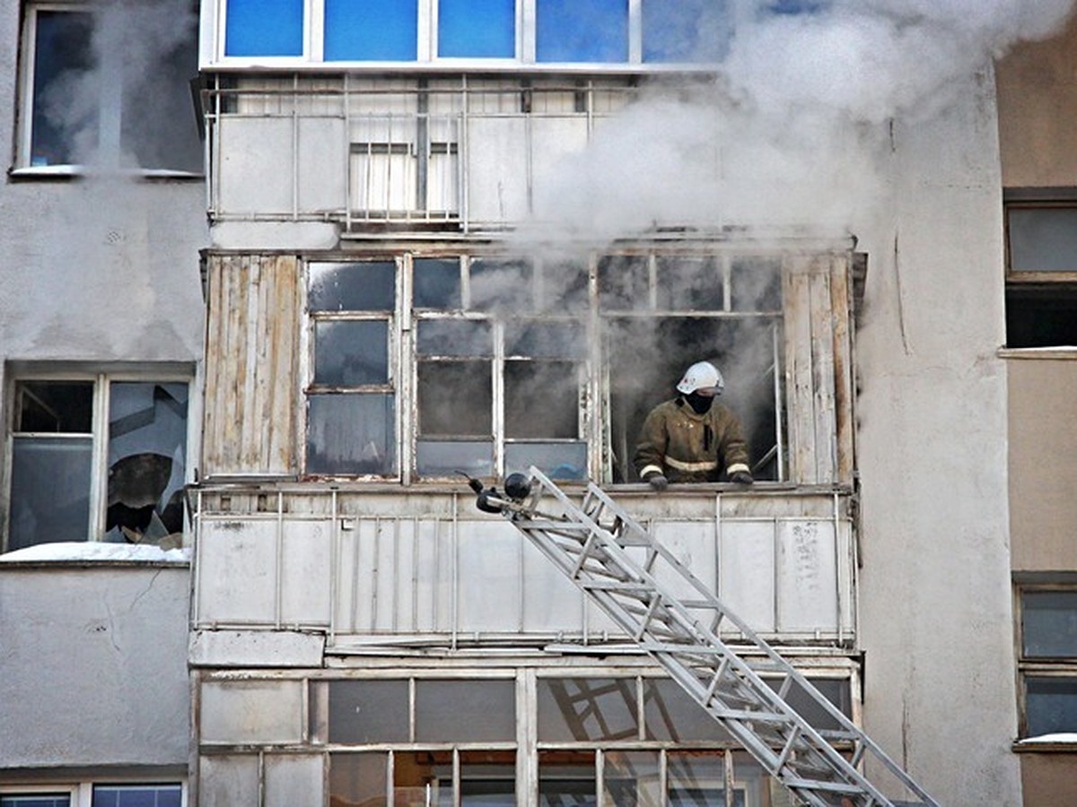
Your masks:
M15 381L8 551L58 541L178 547L187 381Z

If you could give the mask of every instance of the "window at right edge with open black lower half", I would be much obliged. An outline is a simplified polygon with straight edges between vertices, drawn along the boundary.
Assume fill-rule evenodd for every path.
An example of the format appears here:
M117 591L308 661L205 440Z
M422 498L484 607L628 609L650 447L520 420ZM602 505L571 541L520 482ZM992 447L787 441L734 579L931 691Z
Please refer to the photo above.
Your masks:
M1077 346L1077 192L1036 195L1007 194L1006 346Z

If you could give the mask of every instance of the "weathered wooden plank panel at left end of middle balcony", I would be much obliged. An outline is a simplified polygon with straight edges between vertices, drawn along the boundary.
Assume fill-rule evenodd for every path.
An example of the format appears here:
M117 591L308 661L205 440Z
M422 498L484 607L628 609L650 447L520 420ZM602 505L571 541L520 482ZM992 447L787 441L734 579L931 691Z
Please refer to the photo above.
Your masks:
M202 473L295 475L298 260L219 255L208 269Z

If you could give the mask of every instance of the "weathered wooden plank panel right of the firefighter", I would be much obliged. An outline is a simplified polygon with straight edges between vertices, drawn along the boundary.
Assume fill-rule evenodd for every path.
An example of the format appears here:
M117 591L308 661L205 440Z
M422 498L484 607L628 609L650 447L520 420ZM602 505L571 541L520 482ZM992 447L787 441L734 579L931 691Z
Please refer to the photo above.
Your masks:
M853 419L848 257L789 257L784 284L789 480L797 484L850 484Z

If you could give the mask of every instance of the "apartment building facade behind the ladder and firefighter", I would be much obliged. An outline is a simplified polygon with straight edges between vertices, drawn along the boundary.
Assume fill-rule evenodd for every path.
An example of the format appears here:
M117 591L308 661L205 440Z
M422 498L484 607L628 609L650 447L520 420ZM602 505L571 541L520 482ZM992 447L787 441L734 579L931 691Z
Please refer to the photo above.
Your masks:
M997 94L985 62L946 109L851 126L820 182L764 171L781 139L757 162L729 142L758 133L729 123L751 117L722 74L736 42L693 4L204 2L183 40L199 47L202 183L122 150L109 170L45 155L68 130L34 114L61 73L29 54L69 54L56 43L88 36L85 13L22 6L4 189L22 229L5 238L38 305L0 299L38 313L4 341L0 621L18 647L42 624L58 642L14 667L4 724L93 702L114 733L90 751L52 750L47 723L36 745L0 732L5 807L110 788L199 805L787 804L475 508L465 477L531 466L569 492L603 485L941 804L1068 787L1066 744L1026 740L1065 728L1051 637L1073 564L1043 536L1068 518L1008 504L1038 484L1027 440L1055 452L1052 480L1066 467L1062 438L1021 427L1065 400L1071 356L1011 337L1020 301L1036 320L1067 280L1033 250L1041 216L1067 231L1066 169L1047 157L1066 150L1022 147L1030 128L1064 142L1033 124L1059 126L1065 104L1007 107L1067 91L1043 62L1004 62ZM1065 74L1064 46L1035 47L1029 63L1053 54ZM149 137L107 128L94 142ZM872 180L850 180L855 199L850 168ZM90 260L60 259L75 252ZM104 279L92 300L84 266ZM657 494L637 434L699 358L725 373L756 482ZM127 429L145 439L126 448ZM60 475L72 452L82 477ZM61 479L88 489L82 520L46 524ZM142 551L32 553L85 538ZM43 580L100 596L98 621ZM62 663L87 642L124 680ZM154 668L130 682L136 660ZM126 723L108 721L118 703ZM132 737L163 704L160 731Z

